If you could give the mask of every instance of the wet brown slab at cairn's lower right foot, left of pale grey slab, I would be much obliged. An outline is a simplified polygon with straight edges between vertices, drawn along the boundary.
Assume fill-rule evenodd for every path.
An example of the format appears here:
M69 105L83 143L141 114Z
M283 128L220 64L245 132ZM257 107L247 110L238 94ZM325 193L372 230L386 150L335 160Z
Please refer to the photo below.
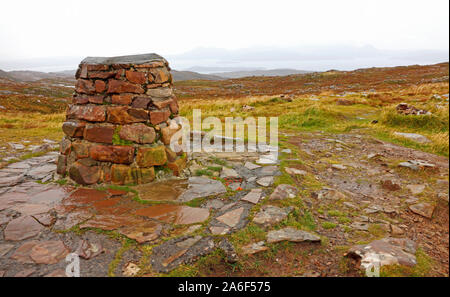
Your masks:
M172 179L134 187L139 198L147 201L176 201L188 187L187 180Z

